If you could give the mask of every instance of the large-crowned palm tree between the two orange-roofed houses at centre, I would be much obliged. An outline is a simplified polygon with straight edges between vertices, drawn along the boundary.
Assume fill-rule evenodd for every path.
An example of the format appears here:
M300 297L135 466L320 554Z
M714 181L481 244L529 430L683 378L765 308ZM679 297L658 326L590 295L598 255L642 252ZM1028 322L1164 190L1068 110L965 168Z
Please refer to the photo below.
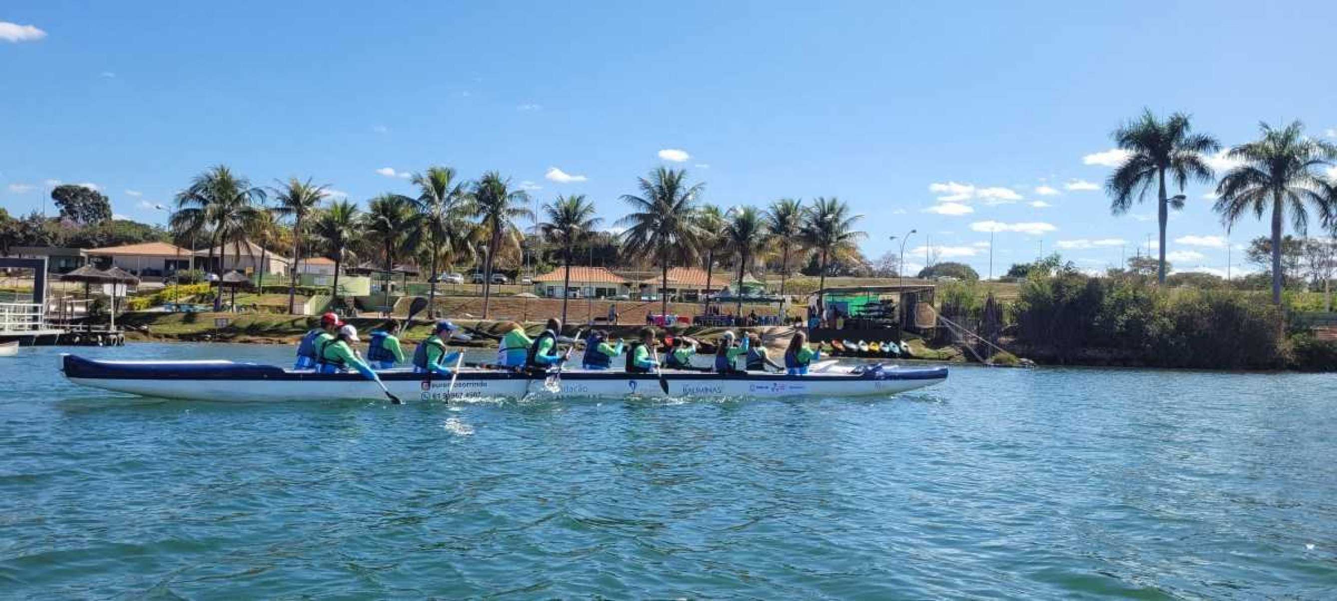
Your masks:
M659 311L667 314L668 264L686 263L701 254L701 230L695 218L697 198L705 184L687 186L686 170L659 167L650 172L650 179L639 178L636 186L640 196L622 196L631 206L631 214L618 219L618 224L627 228L622 232L622 251L635 259L654 256L659 263Z

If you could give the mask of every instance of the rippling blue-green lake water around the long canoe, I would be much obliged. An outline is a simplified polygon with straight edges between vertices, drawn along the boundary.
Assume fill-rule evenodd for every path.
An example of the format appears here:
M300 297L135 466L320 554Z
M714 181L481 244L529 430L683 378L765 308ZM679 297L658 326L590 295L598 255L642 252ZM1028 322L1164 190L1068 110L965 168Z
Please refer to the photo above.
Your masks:
M223 405L76 387L60 350L0 359L3 597L1337 594L1334 375Z

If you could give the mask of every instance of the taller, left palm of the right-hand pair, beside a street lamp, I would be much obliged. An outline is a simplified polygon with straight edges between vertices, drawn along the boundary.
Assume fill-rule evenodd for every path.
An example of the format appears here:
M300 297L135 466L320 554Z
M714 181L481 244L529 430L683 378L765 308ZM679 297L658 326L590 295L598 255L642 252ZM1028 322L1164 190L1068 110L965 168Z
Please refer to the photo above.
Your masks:
M1157 186L1157 212L1161 224L1161 264L1157 279L1166 283L1166 222L1170 208L1183 208L1183 195L1166 198L1166 175L1183 192L1189 180L1211 182L1211 167L1205 154L1215 152L1221 143L1206 134L1193 134L1189 115L1177 112L1162 122L1150 108L1142 116L1114 131L1114 142L1128 152L1127 159L1110 174L1104 187L1112 200L1110 211L1122 215L1142 202Z

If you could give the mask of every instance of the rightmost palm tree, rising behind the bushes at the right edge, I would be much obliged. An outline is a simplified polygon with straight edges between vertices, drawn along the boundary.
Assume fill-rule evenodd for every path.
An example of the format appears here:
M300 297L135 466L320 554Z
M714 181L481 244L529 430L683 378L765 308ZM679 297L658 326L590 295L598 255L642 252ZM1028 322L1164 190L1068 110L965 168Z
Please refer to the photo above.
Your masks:
M1292 122L1285 130L1262 123L1262 139L1230 148L1231 159L1243 164L1230 170L1217 186L1217 203L1226 227L1234 226L1245 212L1259 219L1271 210L1271 302L1281 305L1281 247L1285 214L1290 224L1304 234L1313 204L1322 214L1325 227L1337 222L1337 188L1320 170L1337 160L1337 144L1305 138L1305 126Z

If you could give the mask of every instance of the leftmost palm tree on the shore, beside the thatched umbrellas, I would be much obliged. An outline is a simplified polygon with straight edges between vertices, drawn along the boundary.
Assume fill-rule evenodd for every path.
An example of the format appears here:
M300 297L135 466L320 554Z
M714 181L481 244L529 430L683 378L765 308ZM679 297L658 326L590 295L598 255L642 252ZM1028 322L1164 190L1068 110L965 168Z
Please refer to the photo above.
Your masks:
M241 259L241 244L247 242L250 223L255 219L255 203L265 200L265 191L250 184L250 180L234 175L227 166L217 166L191 179L190 186L176 192L176 214L174 222L182 226L202 224L207 230L207 268L215 275L222 262L214 264L214 250L234 244L234 260ZM214 296L214 310L222 305L222 295Z

